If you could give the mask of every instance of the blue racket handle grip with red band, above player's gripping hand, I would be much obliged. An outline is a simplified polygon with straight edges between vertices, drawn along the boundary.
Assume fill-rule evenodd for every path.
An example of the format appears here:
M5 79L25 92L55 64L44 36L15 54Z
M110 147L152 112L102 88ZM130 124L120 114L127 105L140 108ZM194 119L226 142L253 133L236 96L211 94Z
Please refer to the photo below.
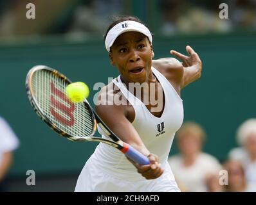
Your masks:
M123 143L124 149L121 151L131 160L135 161L139 165L149 165L149 158L144 156L142 153L134 149L131 145Z

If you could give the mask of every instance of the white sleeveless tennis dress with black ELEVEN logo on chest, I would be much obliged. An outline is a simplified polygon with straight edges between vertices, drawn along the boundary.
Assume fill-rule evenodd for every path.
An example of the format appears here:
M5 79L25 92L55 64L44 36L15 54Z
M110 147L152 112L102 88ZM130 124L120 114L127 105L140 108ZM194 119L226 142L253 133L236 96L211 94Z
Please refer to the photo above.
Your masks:
M154 67L152 72L165 94L165 107L161 117L152 115L145 104L120 83L120 76L118 81L113 79L113 83L133 105L135 119L132 124L147 149L158 155L161 167L164 168L163 174L157 179L145 179L122 152L99 143L78 177L75 192L180 192L167 158L174 135L183 122L183 103L165 76ZM100 127L98 129L102 133Z

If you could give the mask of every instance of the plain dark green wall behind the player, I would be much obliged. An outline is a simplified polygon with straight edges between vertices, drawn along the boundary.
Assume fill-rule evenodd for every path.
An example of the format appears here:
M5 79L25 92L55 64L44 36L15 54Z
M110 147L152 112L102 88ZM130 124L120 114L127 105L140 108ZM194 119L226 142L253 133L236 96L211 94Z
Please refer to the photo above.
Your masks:
M235 131L244 120L255 117L256 33L154 38L155 58L169 56L174 49L185 53L191 45L203 62L201 79L181 93L185 120L205 127L204 151L224 160L236 146ZM68 42L44 38L38 42L0 45L0 115L11 124L21 141L15 151L10 175L24 176L78 173L96 143L69 142L51 131L34 113L26 96L25 78L34 65L48 65L71 81L84 81L91 88L107 84L118 72L109 65L103 40ZM114 115L114 113L113 113ZM170 154L177 152L175 144Z

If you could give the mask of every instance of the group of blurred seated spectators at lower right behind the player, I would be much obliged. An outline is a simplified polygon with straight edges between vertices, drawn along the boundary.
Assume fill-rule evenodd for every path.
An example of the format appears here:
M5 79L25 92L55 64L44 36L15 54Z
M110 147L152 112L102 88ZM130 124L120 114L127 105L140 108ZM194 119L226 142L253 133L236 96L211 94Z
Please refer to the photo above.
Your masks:
M185 122L176 133L179 153L169 157L169 164L181 191L256 192L256 119L238 127L240 147L233 148L222 162L202 151L205 138L196 122Z

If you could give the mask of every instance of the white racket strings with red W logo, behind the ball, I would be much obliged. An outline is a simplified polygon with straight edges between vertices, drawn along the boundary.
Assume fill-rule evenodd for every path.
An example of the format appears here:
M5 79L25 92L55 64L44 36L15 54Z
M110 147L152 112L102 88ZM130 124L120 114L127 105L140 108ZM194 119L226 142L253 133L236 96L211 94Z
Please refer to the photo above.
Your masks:
M71 136L90 136L93 119L83 102L73 103L65 95L64 79L48 70L37 70L32 76L35 101L48 119Z

